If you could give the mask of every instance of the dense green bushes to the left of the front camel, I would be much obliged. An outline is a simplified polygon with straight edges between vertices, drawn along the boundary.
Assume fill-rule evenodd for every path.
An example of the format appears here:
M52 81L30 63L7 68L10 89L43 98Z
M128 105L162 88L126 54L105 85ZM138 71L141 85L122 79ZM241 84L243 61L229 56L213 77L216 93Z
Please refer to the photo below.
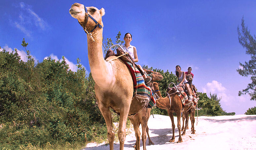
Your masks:
M23 39L22 46L27 45ZM27 62L17 49L0 51L0 149L106 139L94 81L80 60L77 72L69 70L64 57L61 62L48 57L35 66L26 51Z

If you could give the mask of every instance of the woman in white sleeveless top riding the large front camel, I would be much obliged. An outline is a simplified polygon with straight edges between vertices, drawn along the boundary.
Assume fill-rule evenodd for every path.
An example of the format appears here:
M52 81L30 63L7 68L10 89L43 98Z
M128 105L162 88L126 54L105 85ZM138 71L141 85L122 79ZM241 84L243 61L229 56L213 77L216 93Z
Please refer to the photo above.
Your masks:
M138 59L138 55L137 55L137 49L136 49L135 46L130 45L130 42L132 40L131 34L126 33L125 37L124 37L124 40L125 40L125 45L122 46L123 49L131 55L134 62L138 62L139 59ZM137 65L137 66L142 71L142 76L145 80L145 83L148 84L151 81L151 78L145 74L145 71L142 69L142 67L140 65Z

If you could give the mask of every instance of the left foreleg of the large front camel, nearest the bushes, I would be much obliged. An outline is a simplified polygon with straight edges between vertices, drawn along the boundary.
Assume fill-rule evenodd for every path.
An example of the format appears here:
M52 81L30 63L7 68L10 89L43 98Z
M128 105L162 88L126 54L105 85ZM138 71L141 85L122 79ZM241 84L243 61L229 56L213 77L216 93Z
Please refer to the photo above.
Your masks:
M109 149L113 150L114 149L114 137L115 137L115 133L112 127L112 116L111 116L111 112L109 110L109 108L104 107L103 105L101 105L101 103L98 104L99 110L101 112L101 114L103 115L106 125L107 125L107 130L108 130L108 142L109 142Z

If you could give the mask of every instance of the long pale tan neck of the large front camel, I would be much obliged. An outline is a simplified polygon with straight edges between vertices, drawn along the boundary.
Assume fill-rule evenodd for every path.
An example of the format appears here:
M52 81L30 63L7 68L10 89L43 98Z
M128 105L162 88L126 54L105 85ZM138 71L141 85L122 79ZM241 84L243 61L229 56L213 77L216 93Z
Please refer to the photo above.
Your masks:
M92 32L92 37L95 40L93 42L90 35L87 35L88 43L88 59L91 68L91 75L95 83L102 88L109 88L112 82L112 72L109 70L111 67L110 63L107 63L103 58L102 53L102 31L103 29L95 29Z

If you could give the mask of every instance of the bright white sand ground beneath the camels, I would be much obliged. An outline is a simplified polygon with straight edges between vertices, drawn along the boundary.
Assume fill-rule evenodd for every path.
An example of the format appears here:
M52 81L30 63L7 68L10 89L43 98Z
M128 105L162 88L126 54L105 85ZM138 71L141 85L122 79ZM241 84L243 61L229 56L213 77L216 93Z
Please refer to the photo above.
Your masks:
M148 121L149 135L155 145L148 145L147 150L256 150L256 115L234 115L198 117L195 122L196 134L191 134L191 122L186 135L182 136L183 142L177 143L179 138L177 118L175 121L175 142L169 143L172 137L171 120L169 116L151 115ZM196 120L197 121L197 120ZM182 118L181 118L182 125ZM126 136L125 150L134 150L136 137L134 131ZM84 150L109 150L109 145L89 143ZM140 149L143 150L142 140ZM119 150L119 142L114 144L114 150Z

